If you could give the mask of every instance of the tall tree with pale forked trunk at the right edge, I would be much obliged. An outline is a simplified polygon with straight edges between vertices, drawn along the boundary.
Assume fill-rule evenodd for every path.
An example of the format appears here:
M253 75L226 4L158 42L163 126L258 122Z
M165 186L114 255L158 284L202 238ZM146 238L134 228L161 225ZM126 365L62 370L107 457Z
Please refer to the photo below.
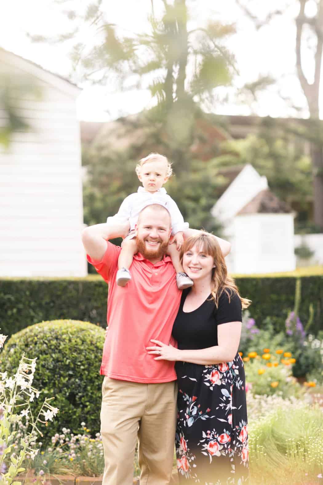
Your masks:
M301 134L310 141L311 145L314 223L323 230L323 129L319 113L322 84L323 0L291 0L285 6L282 5L278 11L272 9L264 20L255 13L250 1L236 0L236 3L254 22L257 30L267 25L274 16L281 15L286 5L298 6L298 15L295 17L295 72L306 97L310 116L308 129L303 129ZM307 13L307 7L311 7L311 15ZM312 55L312 74L307 72L305 55ZM310 78L313 79L312 82L309 81Z

